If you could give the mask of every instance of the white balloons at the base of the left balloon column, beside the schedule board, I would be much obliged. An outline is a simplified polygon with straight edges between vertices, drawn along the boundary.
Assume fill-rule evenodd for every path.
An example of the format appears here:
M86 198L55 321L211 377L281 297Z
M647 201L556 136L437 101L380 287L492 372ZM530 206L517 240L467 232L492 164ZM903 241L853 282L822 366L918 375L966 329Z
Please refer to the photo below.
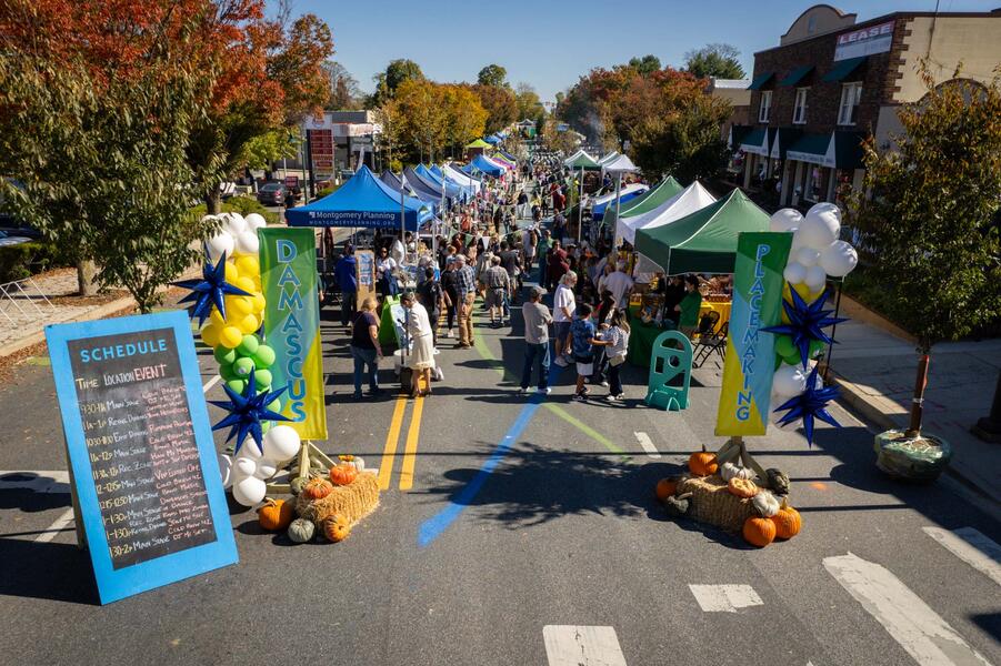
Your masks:
M279 465L299 453L299 433L288 425L276 425L263 437L263 446L241 446L234 456L219 454L222 485L231 488L233 500L253 506L264 500L266 481L274 476Z

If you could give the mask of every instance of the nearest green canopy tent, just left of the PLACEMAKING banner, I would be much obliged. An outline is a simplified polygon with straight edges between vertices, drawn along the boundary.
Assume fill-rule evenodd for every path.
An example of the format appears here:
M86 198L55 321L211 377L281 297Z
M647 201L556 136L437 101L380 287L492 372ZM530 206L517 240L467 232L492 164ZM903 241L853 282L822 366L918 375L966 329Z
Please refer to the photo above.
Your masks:
M740 190L690 215L653 229L637 230L637 252L680 273L732 273L737 239L745 231L768 231L769 214Z

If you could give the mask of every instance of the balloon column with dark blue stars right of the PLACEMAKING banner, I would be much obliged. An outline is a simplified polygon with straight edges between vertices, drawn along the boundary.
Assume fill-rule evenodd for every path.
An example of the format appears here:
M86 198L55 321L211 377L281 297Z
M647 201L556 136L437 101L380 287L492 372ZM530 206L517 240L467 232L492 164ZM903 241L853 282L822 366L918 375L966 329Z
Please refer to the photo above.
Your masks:
M833 203L818 203L805 215L782 209L771 216L770 226L772 231L792 232L783 272L782 325L765 329L775 333L772 402L779 407L772 420L780 427L802 422L812 444L814 417L837 425L825 411L837 390L824 387L814 361L832 342L822 329L844 321L823 310L827 281L848 275L858 265L859 255L851 244L838 240L841 210Z

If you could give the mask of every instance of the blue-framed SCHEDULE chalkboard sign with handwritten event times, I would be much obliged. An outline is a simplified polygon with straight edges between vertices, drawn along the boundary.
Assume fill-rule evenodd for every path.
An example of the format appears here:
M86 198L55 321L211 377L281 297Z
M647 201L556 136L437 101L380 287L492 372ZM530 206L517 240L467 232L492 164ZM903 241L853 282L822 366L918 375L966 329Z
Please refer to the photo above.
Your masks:
M186 313L46 337L101 603L236 563Z

